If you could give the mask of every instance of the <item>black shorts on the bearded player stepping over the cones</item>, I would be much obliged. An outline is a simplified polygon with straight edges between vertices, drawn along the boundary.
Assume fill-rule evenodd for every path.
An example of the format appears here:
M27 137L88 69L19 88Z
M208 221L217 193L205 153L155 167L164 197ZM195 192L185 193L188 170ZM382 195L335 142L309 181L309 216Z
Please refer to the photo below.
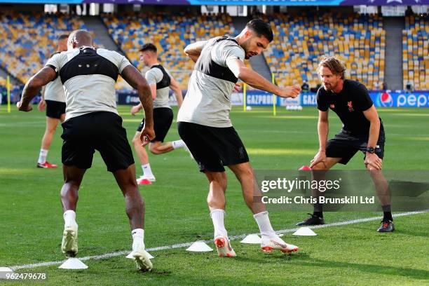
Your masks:
M217 128L179 122L177 128L197 161L200 172L224 172L224 166L249 162L243 142L233 127Z

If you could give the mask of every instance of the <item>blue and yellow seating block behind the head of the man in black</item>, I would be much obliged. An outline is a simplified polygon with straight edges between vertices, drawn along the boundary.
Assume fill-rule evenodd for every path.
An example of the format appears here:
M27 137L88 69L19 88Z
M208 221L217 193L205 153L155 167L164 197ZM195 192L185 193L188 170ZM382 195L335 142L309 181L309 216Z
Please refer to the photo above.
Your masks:
M384 78L385 32L377 15L325 13L270 16L275 41L266 60L280 85L311 87L321 55L336 55L346 63L346 75L378 89Z

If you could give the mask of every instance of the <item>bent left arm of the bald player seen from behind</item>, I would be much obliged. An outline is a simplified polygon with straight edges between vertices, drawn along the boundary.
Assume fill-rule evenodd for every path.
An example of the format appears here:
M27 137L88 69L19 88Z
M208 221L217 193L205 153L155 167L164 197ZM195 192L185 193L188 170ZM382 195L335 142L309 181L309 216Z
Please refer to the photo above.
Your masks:
M34 76L25 83L21 100L16 104L18 110L26 112L31 111L32 107L29 104L32 99L39 93L42 86L46 86L46 84L53 81L56 76L57 72L52 67L43 67L37 74L34 74Z

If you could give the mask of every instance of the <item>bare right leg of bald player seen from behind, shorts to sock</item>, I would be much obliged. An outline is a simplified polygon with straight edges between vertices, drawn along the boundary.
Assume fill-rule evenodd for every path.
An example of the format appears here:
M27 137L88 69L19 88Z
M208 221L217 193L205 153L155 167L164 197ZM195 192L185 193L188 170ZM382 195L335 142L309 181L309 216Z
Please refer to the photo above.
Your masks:
M135 181L135 165L127 169L114 172L116 182L125 198L126 212L130 219L131 229L143 229L144 227L144 201L140 196Z

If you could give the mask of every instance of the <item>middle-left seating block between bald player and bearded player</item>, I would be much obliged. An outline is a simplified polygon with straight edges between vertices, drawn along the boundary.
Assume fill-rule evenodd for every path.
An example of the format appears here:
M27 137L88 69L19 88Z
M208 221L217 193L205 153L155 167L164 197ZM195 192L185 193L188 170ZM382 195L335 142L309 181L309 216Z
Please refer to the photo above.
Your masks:
M183 48L193 41L209 39L224 34L234 35L229 15L191 15L191 14L128 14L103 15L109 33L118 46L126 53L132 64L145 70L139 62L139 48L144 43L152 42L158 48L161 62L179 82L180 87L187 89L193 62L184 55ZM118 82L119 88L128 85Z

